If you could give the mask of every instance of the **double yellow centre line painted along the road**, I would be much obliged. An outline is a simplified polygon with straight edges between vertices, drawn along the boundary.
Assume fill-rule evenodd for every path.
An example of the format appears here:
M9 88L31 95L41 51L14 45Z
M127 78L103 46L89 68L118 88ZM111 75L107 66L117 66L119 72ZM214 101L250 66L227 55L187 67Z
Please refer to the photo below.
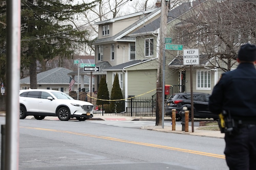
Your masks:
M158 145L158 144L152 144L152 143L136 142L136 141L132 141L132 140L118 139L118 138L108 137L108 136L98 136L98 135L71 132L71 131L62 131L62 130L56 130L56 129L32 128L32 127L20 127L20 128L34 129L34 130L41 130L41 131L60 132L60 133L68 133L68 134L80 135L80 136L88 136L88 137L94 137L94 138L100 138L100 139L106 139L106 140L119 141L119 142L124 142L124 143L138 144L138 145L143 145L143 146L146 146L146 147L154 147L154 148L160 148L160 149L166 149L166 150L172 150L172 151L179 151L179 152L186 152L186 153L190 153L190 154L197 154L197 155L203 155L203 156L225 159L225 155L212 154L212 153L207 153L207 152L187 150L187 149L174 148L174 147L167 147L167 146L164 146L164 145Z

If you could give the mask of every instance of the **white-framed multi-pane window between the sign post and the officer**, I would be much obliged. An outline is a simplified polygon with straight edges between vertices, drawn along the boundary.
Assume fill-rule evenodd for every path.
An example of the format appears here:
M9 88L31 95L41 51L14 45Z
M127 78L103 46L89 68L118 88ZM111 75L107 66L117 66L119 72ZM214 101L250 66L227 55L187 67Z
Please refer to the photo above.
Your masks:
M197 71L197 89L210 90L210 70Z

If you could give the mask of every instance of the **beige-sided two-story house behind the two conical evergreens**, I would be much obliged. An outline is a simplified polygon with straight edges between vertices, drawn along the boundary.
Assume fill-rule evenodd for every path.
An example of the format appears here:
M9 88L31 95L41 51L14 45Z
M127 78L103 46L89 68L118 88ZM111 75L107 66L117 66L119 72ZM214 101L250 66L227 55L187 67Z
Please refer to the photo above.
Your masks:
M125 98L128 95L138 95L155 89L156 74L151 72L153 60L152 41L148 39L147 56L151 57L136 57L136 37L131 37L129 34L134 32L147 23L160 17L160 8L137 12L122 17L117 17L105 21L96 22L98 25L98 38L95 41L95 63L100 67L101 74L95 75L95 90L99 86L101 76L106 76L108 89L111 92L114 77L118 74L119 84ZM156 51L156 46L154 46ZM156 54L155 54L156 56ZM102 66L108 65L109 67ZM137 66L139 65L139 66ZM127 72L131 66L132 70ZM133 77L133 80L129 77ZM129 79L129 81L128 81ZM144 81L145 80L145 81ZM148 82L147 80L151 80ZM147 83L146 83L147 82ZM154 82L154 83L153 83ZM146 85L145 85L146 84ZM131 87L133 90L128 90ZM151 92L151 95L155 93Z

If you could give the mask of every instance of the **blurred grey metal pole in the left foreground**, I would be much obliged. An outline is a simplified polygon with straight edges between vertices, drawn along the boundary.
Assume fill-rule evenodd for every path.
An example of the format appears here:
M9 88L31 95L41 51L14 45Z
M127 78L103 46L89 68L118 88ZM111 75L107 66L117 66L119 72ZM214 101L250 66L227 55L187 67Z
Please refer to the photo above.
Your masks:
M19 156L19 76L20 76L20 0L7 5L7 102L5 153L1 169L18 169ZM3 144L3 143L2 143ZM3 146L2 146L3 147ZM3 159L2 159L3 160ZM4 163L4 165L3 165Z

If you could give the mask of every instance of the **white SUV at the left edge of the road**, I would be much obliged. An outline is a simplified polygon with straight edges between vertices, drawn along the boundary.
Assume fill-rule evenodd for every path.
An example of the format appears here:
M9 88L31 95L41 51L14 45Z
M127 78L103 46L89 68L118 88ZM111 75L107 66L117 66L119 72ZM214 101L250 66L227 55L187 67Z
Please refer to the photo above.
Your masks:
M75 117L84 121L93 117L93 105L74 100L66 93L57 90L28 89L19 91L19 118L33 115L41 120L46 116L58 116L67 121Z

